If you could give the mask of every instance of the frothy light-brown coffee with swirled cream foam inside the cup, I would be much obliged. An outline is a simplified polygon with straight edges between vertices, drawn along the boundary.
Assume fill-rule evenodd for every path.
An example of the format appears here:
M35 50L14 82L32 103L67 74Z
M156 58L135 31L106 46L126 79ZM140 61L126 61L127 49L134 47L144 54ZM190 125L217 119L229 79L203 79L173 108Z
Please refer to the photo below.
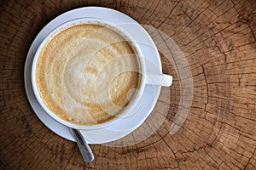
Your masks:
M81 24L55 33L41 49L36 83L44 104L67 122L95 125L119 116L141 82L137 51L107 25Z

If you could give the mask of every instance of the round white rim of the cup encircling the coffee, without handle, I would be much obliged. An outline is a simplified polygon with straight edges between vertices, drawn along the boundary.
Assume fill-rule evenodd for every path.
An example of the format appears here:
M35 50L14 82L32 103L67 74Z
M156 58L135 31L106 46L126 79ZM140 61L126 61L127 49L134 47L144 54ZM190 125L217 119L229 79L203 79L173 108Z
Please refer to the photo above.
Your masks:
M131 104L129 104L129 106L126 106L124 111L119 113L118 116L108 120L107 122L99 123L96 125L81 125L81 124L75 124L73 122L67 122L66 120L62 119L60 116L55 115L55 113L53 111L50 111L49 108L44 104L44 101L38 92L38 86L37 86L37 82L36 82L36 68L37 68L39 54L40 54L42 48L44 48L44 45L47 42L49 42L49 40L52 38L52 36L55 36L58 32L64 31L69 27L79 26L79 25L83 25L83 24L90 24L90 23L111 26L111 28L113 28L114 31L118 31L119 34L121 34L122 36L125 36L125 38L127 38L131 42L131 45L137 51L137 55L138 55L137 58L139 59L139 63L141 65L142 77L141 77L141 82L140 82L138 92L137 92L135 99L132 99ZM138 42L136 42L134 40L134 38L131 37L129 32L125 30L125 26L129 26L129 25L131 25L131 23L115 24L108 20L102 20L102 19L91 18L91 17L84 17L84 18L79 18L79 19L75 19L75 20L68 20L67 22L61 24L60 26L57 26L53 31L50 31L49 34L40 43L40 45L38 46L36 53L34 54L34 57L32 59L32 74L31 74L32 75L32 90L36 96L36 99L38 100L39 105L41 105L42 108L44 109L44 111L46 111L46 113L49 116L51 116L55 121L60 122L61 124L65 125L67 127L72 127L72 128L81 129L81 130L95 130L95 129L100 129L100 128L111 126L111 125L113 125L113 123L121 121L122 119L124 119L124 117L121 117L121 116L125 116L125 115L129 114L129 112L131 112L132 109L137 105L137 103L139 102L139 100L142 97L142 94L143 94L143 91L144 91L144 88L146 85L146 79L144 77L146 75L146 66L145 66L145 61L143 59L143 53L142 53L140 46L138 45Z

